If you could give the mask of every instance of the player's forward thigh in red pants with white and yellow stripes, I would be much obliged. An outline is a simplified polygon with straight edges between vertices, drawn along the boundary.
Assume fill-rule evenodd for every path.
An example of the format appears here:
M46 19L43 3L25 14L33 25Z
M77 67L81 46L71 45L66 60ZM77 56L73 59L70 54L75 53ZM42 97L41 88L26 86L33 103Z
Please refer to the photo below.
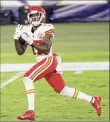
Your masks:
M27 73L25 73L24 76L29 77L33 81L37 81L53 72L56 68L56 65L57 62L55 56L47 57L46 60L34 65Z

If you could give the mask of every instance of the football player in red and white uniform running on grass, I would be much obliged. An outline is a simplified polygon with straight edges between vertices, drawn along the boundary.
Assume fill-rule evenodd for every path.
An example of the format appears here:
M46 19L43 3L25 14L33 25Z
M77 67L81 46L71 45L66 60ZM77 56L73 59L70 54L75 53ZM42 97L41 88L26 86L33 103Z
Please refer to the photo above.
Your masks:
M101 115L101 97L90 96L76 88L71 88L65 84L62 78L61 58L52 52L52 42L55 29L52 24L46 24L46 13L42 7L31 6L28 13L29 25L18 25L14 33L15 48L19 55L24 54L27 46L32 47L32 51L37 59L23 78L28 99L28 110L17 116L20 120L35 120L34 102L35 88L34 82L41 78L51 85L60 95L83 99L92 105L98 116Z

